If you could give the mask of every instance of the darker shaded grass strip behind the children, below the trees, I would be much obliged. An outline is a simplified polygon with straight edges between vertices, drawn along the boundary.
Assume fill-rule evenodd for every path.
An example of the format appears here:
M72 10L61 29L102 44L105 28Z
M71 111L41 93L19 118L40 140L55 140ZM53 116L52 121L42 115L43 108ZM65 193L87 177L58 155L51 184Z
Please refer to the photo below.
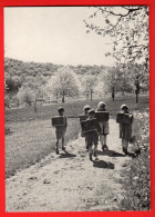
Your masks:
M149 97L148 96L140 96L140 102L135 102L135 96L125 96L125 97L116 97L115 101L112 101L111 98L100 99L106 102L106 108L110 111L110 115L115 116L116 111L120 110L122 103L127 103L131 108L131 111L135 110L145 110L148 108ZM90 105L92 108L96 109L96 106L100 100L76 100L66 103L55 103L48 106L40 106L38 108L38 112L35 114L33 107L25 107L20 109L10 109L6 110L6 122L7 121L20 121L20 120L31 120L31 119L50 119L52 116L56 115L58 107L62 106L65 108L66 116L78 117L83 112L83 107L85 105Z

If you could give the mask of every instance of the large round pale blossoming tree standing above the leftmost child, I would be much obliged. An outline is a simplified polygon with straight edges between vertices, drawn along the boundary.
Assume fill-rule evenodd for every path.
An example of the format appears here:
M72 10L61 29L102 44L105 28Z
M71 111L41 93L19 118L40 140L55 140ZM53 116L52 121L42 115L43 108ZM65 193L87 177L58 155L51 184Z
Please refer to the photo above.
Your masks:
M46 88L56 99L61 97L62 102L64 102L65 97L79 96L80 82L73 70L66 66L60 68L58 72L51 77Z

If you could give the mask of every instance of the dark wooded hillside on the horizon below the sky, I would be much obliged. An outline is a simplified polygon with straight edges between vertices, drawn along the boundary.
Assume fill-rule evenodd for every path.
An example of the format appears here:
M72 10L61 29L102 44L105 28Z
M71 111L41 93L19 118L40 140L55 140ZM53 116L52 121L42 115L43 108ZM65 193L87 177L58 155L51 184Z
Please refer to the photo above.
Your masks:
M40 77L44 82L53 76L62 65L50 62L23 62L21 60L6 58L4 59L4 78L8 87L7 92L14 95L28 81L32 81L34 77ZM70 68L79 76L85 73L96 75L106 69L104 66L70 66Z

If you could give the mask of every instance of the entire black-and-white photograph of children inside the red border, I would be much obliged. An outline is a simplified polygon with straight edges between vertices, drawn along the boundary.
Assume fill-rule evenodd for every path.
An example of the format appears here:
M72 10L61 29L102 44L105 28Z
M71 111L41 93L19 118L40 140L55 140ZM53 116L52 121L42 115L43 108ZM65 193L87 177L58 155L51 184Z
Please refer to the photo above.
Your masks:
M148 211L149 7L4 7L6 211Z

